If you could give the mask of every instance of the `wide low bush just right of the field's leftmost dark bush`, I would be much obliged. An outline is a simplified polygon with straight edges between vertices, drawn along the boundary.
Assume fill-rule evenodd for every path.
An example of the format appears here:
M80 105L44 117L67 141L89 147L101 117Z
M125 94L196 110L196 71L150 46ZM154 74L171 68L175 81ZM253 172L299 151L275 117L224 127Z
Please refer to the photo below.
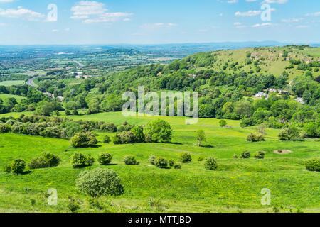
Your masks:
M42 168L50 168L57 167L60 163L60 158L57 155L53 155L51 153L43 153L41 157L33 158L29 163L28 167L33 169L42 169Z

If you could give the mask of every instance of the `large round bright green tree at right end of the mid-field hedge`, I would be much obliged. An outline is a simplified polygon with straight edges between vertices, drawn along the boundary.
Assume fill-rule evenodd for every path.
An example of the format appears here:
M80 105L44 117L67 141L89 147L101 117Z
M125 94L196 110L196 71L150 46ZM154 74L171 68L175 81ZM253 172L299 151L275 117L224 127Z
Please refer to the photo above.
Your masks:
M147 143L167 143L171 141L172 128L164 120L150 121L144 128Z

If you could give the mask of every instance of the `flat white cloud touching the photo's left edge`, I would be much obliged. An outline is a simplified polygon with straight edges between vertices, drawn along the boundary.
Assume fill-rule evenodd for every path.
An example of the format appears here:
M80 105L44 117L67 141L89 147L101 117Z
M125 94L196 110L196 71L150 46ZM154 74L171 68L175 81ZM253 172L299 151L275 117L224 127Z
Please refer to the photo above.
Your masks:
M21 6L18 6L18 9L0 9L0 16L6 18L21 18L28 21L40 21L41 19L46 18L42 13L24 9Z

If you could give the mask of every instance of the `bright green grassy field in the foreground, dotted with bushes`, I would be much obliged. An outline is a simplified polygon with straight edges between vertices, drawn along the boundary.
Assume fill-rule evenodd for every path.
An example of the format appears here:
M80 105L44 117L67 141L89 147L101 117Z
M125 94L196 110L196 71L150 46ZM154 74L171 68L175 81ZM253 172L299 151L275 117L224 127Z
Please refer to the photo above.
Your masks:
M69 116L73 119L128 121L144 125L154 119L149 117L124 118L121 113L103 113L90 116ZM91 154L97 160L101 152L109 152L114 158L111 168L119 173L125 193L117 198L102 198L107 201L105 212L272 212L277 207L281 212L320 211L319 172L305 171L304 162L320 156L318 140L279 141L279 131L268 129L265 142L249 143L246 136L255 128L240 128L240 121L228 121L230 128L220 128L217 119L199 119L196 125L186 125L184 118L165 117L174 129L172 143L143 143L135 145L105 145L96 148L75 149L68 140L37 136L0 134L0 166L17 157L27 162L44 151L55 153L62 159L58 167L31 170L26 175L0 172L0 211L4 212L68 212L68 196L79 199L79 212L100 212L90 208L88 196L78 192L75 179L86 169L75 170L69 164L75 152ZM206 147L195 145L196 131L206 131ZM103 135L99 134L99 140ZM287 155L278 155L274 150L292 150ZM233 154L244 150L264 150L265 160L234 159ZM183 152L191 153L193 162L182 164L181 170L162 170L149 165L149 155L167 159L179 159ZM124 165L126 155L135 155L140 165ZM218 170L205 170L198 157L216 157ZM48 206L46 192L58 190L58 205ZM271 205L262 206L261 190L271 191ZM149 199L158 199L154 206ZM35 200L34 203L31 201Z

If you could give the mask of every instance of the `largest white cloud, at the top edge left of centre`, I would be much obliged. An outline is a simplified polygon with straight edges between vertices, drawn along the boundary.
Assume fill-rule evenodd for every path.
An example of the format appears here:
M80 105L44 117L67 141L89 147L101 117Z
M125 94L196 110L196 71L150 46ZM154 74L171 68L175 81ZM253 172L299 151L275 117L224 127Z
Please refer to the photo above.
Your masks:
M128 16L132 16L132 13L107 13L108 9L105 8L105 4L97 1L80 1L71 8L73 16L70 18L75 20L82 20L82 23L112 23L120 18L124 18L124 21L129 21Z

